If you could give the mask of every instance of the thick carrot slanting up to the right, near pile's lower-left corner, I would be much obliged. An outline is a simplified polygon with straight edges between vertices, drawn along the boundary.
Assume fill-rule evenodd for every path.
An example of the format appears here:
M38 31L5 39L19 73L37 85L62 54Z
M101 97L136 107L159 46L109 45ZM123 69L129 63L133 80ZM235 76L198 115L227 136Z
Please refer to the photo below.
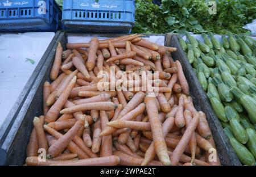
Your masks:
M57 157L72 141L73 137L77 134L79 129L82 127L82 122L77 121L76 124L60 137L51 147L49 147L49 155L52 157Z

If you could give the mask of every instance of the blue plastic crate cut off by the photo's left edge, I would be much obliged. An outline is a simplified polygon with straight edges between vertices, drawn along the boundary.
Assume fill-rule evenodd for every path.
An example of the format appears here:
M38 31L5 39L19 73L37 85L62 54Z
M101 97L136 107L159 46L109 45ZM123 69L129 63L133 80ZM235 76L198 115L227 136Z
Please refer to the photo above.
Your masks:
M57 31L61 10L54 0L0 0L0 31Z

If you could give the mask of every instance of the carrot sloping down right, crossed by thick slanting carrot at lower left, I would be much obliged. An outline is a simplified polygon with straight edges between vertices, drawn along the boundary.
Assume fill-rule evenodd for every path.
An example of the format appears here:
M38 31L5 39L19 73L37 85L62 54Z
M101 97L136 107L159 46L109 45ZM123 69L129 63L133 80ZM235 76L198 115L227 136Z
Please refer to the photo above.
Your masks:
M47 132L49 134L52 134L52 136L54 136L55 138L59 139L61 137L63 137L63 134L57 132L56 130L48 127L47 125L44 125L44 129L47 130ZM69 142L67 148L73 153L73 154L77 154L79 156L80 159L85 159L85 158L89 158L88 155L86 155L84 153L83 150L80 149L80 147L78 147L75 142L71 141Z

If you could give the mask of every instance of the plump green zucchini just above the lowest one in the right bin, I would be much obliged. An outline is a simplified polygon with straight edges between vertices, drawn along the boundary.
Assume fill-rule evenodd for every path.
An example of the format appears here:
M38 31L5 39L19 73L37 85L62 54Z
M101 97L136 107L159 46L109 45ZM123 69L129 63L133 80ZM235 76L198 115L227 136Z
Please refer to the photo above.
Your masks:
M241 142L242 144L246 144L246 142L248 141L248 136L245 129L239 123L239 120L231 119L229 120L229 125L237 141Z

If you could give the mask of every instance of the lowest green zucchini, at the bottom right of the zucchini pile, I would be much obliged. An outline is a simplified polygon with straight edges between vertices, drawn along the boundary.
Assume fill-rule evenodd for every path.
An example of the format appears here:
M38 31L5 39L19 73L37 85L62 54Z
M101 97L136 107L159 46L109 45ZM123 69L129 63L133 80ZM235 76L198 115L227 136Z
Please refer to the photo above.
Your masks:
M243 144L241 144L241 142L234 138L229 128L224 128L224 132L226 133L226 136L228 136L230 144L232 145L240 161L245 165L254 165L255 159L253 154L251 154L250 151Z

